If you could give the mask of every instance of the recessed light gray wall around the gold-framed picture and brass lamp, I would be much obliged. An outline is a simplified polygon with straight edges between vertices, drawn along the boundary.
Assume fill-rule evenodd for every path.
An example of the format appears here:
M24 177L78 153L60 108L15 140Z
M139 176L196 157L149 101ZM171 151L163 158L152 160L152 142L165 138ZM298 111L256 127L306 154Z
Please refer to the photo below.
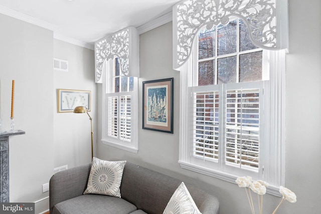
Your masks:
M96 83L94 51L54 39L54 57L68 60L69 71L54 70L54 103L57 103L57 89L91 91L93 129L96 129ZM55 104L54 104L55 105ZM95 132L95 131L94 131ZM90 120L86 113L54 112L54 167L68 165L68 168L91 162ZM96 141L96 133L94 134Z

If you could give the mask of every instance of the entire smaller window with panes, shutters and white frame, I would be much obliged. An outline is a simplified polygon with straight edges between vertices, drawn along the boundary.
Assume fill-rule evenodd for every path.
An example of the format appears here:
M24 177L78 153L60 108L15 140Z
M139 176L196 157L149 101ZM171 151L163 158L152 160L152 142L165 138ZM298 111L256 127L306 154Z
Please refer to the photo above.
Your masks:
M120 72L118 58L108 60L106 65L102 141L136 153L137 77Z

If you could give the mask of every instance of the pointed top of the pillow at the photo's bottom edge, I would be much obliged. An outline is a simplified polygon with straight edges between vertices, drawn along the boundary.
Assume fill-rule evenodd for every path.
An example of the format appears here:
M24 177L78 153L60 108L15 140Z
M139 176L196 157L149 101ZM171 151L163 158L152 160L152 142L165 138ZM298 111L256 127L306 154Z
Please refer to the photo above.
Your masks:
M163 214L202 214L197 208L185 183L182 182L175 190Z

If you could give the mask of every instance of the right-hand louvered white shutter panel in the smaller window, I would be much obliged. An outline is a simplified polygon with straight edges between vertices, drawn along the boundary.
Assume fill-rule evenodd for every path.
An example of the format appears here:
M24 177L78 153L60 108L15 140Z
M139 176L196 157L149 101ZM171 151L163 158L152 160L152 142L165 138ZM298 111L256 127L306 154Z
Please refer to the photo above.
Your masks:
M131 138L131 96L120 96L120 139Z

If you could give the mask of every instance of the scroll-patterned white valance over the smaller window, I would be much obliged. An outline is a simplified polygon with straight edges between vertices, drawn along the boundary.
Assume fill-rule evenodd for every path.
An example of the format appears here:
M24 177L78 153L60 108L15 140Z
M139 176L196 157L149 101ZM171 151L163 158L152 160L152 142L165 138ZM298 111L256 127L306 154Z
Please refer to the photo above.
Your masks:
M95 42L95 78L101 83L105 61L119 58L120 70L126 76L139 76L139 35L127 27Z

